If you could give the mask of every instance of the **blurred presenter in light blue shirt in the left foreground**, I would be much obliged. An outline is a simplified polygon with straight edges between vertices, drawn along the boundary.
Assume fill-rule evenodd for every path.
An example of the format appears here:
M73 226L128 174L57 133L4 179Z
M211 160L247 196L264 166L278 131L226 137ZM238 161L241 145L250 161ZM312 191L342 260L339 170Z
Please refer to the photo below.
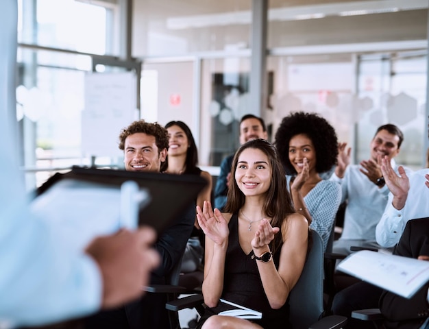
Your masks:
M16 134L16 0L0 2L0 327L81 317L142 294L159 256L153 230L123 230L76 251L29 211Z

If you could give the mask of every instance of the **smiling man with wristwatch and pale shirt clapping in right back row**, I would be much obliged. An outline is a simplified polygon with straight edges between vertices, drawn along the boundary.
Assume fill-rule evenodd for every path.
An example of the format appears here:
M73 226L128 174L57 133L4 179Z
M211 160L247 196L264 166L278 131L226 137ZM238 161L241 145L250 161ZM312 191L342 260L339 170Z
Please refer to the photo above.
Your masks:
M382 125L373 137L369 160L350 164L350 148L339 145L338 164L330 180L339 182L342 202L347 202L343 232L334 241L333 252L350 254L350 247L380 247L376 243L376 225L387 203L389 189L384 183L378 159L386 157L395 167L393 158L400 152L404 135L392 124Z

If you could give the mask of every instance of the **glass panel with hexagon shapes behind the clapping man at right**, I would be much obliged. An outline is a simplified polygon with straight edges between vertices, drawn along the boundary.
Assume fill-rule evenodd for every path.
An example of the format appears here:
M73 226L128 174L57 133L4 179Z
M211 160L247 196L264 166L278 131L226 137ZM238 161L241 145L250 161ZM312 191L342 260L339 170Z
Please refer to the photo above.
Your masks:
M359 118L357 160L368 157L369 143L377 127L393 123L404 133L396 160L411 169L421 163L426 129L427 59L422 52L387 53L361 56L359 64L360 97L368 106Z

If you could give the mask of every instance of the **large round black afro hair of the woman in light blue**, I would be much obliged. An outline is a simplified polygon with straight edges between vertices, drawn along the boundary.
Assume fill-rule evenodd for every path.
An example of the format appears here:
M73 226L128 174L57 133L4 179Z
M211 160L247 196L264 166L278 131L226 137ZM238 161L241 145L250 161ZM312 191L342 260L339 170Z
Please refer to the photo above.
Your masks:
M280 154L286 173L297 171L289 161L289 143L293 136L305 134L311 139L316 151L316 171L323 173L332 169L338 155L338 139L334 127L316 113L294 112L282 119L275 133L274 145Z

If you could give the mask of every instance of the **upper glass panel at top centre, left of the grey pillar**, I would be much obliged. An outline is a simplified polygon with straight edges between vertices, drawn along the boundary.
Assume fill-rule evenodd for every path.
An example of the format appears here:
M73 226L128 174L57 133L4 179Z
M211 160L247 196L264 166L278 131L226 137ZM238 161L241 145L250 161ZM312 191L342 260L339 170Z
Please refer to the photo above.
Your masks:
M249 48L252 1L134 1L133 56Z

